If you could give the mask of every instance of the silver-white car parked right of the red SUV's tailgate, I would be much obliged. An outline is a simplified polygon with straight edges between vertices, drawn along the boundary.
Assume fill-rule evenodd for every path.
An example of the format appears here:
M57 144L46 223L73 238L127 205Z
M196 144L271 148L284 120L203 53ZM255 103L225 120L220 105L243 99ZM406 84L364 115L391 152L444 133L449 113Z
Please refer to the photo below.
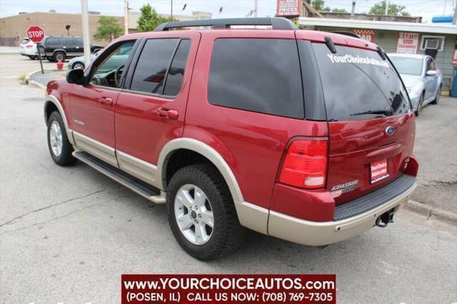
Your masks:
M431 56L419 54L388 54L408 89L416 116L427 103L438 103L443 74L436 69Z

